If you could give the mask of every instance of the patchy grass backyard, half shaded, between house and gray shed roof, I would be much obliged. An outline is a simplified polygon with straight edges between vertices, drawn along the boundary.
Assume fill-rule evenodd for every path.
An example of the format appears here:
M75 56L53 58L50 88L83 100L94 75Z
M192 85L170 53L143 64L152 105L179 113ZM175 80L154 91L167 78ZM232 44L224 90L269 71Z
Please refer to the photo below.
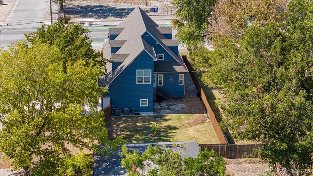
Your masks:
M157 123L160 132L157 139L150 139L150 125ZM109 138L123 136L128 143L197 141L199 144L217 144L219 140L211 123L205 122L202 114L179 114L161 116L112 117L107 121Z

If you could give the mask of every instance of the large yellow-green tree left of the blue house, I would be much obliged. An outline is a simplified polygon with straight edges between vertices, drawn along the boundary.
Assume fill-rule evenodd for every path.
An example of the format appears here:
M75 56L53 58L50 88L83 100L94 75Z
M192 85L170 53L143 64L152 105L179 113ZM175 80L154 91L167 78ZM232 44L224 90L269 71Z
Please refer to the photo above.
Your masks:
M121 143L108 140L104 117L96 112L107 91L97 85L100 67L83 57L64 58L58 47L40 40L0 51L0 151L25 176L64 175L72 170L65 163L80 157L73 156L72 148L100 152L104 144L107 153ZM84 166L87 159L77 164Z

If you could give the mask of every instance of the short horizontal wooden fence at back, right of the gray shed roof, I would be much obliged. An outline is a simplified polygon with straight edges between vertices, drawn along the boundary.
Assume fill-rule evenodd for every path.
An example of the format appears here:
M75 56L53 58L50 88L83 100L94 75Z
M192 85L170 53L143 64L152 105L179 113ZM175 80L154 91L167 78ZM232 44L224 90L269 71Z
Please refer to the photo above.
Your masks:
M253 153L254 149L262 146L261 144L247 144L247 145L228 145L228 144L199 144L202 151L204 149L214 150L218 156L225 158L242 158L244 155L249 157L257 157L257 154Z

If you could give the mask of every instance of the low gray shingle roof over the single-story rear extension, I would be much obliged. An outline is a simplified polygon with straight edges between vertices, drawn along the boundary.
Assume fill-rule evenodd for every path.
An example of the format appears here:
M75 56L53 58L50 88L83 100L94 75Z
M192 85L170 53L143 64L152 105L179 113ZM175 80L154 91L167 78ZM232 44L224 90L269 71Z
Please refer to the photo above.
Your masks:
M155 61L153 64L154 72L188 72L184 66L176 61Z

